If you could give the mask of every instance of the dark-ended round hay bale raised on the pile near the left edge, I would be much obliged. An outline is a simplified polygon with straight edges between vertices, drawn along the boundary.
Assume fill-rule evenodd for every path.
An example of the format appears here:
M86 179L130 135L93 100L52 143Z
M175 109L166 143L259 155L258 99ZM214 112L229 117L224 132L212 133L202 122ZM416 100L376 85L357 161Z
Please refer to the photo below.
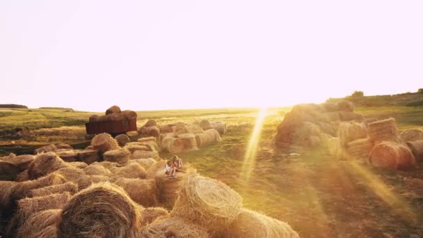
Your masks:
M29 164L28 174L31 179L36 179L65 167L67 164L63 159L54 152L47 152L35 156Z

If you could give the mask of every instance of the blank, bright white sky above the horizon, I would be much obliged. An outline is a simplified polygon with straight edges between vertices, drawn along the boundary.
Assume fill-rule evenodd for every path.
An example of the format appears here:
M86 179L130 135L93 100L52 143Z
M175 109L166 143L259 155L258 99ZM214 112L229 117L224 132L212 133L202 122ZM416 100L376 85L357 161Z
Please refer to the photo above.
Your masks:
M289 106L423 88L423 1L0 1L0 104Z

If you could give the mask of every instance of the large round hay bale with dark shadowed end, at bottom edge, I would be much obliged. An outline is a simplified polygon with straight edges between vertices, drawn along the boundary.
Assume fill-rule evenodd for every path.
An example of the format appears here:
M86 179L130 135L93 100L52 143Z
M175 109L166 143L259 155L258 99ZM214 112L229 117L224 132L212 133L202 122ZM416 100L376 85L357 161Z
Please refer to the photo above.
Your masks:
M58 237L136 237L141 232L140 210L120 187L96 184L63 207Z

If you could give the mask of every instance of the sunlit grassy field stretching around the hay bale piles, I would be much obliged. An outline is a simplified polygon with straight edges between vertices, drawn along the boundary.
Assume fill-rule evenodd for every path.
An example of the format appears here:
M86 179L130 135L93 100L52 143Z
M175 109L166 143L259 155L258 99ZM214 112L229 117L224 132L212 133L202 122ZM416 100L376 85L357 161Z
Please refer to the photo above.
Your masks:
M359 161L337 160L324 150L300 154L272 148L276 126L289 108L270 109L258 140L250 180L243 176L246 149L257 109L201 109L138 112L138 126L150 118L160 123L207 118L228 124L223 141L178 154L202 175L225 182L244 205L291 224L301 237L423 237L423 168L388 171ZM361 107L369 118L393 117L399 130L423 127L423 109L406 106ZM31 150L54 142L80 143L83 123L93 113L58 110L0 110L0 130L29 127L33 141L15 140ZM50 127L51 129L45 129ZM10 138L1 138L8 153ZM25 147L26 146L26 147ZM161 154L168 158L170 154Z

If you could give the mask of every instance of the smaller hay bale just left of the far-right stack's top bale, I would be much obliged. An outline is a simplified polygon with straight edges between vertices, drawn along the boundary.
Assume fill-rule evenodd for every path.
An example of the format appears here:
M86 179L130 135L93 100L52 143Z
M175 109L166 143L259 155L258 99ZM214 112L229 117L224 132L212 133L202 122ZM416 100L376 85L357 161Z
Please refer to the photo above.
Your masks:
M367 127L365 123L341 122L338 128L338 137L342 147L359 138L367 138Z

